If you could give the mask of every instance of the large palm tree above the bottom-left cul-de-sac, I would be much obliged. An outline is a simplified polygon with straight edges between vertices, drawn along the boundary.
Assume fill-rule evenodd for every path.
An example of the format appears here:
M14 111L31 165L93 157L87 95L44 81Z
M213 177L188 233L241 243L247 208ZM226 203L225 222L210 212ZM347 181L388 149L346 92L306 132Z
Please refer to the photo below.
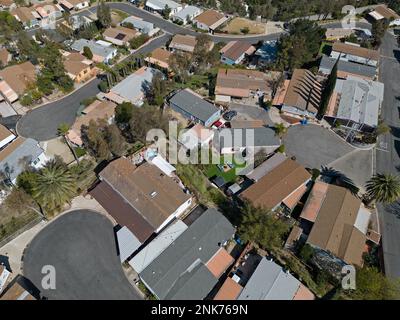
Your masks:
M52 211L69 202L76 194L76 179L65 165L50 160L38 172L32 193L43 208Z

